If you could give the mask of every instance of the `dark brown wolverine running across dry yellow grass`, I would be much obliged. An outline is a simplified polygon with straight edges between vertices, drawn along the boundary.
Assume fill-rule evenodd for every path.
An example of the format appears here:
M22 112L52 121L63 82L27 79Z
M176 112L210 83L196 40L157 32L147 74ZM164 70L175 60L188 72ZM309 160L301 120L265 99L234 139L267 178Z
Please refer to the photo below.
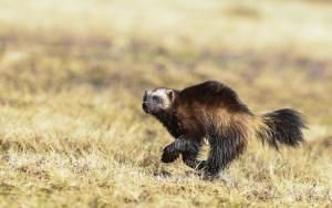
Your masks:
M163 163L183 162L214 179L239 157L250 137L279 149L280 145L298 147L304 142L302 114L282 108L253 114L237 93L218 81L186 87L146 90L143 110L156 117L175 138L164 148ZM198 159L204 138L210 146L206 160Z

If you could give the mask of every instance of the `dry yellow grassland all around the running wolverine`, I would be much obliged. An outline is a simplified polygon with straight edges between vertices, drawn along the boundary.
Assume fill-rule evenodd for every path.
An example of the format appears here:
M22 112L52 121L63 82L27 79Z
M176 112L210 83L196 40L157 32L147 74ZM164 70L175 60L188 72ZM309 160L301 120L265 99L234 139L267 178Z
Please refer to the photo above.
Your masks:
M331 207L332 4L250 2L1 0L0 207ZM308 143L251 141L231 183L162 165L143 91L209 79Z

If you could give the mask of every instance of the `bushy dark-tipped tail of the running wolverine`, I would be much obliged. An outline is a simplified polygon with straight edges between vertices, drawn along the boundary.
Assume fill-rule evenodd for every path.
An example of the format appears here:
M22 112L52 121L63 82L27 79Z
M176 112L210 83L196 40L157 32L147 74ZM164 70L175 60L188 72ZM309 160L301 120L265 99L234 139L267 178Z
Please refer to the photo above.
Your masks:
M256 136L276 149L280 145L298 147L304 142L302 128L305 128L305 122L302 114L294 110L283 108L263 114L259 123Z

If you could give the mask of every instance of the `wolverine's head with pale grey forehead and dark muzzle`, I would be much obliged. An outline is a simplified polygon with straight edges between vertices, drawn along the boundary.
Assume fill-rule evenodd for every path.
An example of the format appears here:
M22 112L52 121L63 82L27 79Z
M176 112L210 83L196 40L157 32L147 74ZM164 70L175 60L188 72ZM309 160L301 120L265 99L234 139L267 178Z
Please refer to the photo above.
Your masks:
M148 114L167 112L174 103L175 91L170 89L146 90L143 96L143 110Z

